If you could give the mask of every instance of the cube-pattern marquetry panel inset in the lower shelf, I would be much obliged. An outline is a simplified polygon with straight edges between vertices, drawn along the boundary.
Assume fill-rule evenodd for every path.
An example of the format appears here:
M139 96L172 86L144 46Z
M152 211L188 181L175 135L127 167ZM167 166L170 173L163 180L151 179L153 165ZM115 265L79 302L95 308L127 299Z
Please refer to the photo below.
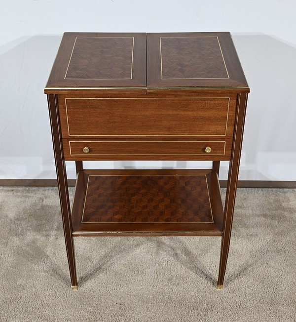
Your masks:
M89 176L82 222L211 223L206 176Z

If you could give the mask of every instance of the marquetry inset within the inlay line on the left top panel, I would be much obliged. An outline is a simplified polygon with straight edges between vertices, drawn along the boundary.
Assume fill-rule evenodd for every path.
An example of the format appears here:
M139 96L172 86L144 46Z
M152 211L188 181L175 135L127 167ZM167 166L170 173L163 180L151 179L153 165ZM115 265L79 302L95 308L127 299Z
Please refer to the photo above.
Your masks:
M65 79L131 79L133 37L77 37Z

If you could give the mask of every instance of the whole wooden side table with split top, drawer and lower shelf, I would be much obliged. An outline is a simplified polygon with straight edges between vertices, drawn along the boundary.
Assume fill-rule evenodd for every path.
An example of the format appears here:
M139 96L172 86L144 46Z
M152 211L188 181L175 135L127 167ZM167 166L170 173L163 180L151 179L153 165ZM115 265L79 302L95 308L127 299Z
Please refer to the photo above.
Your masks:
M249 93L230 34L66 33L44 92L72 288L75 236L168 235L222 236L222 288ZM213 166L84 170L90 160ZM76 163L72 209L65 161Z

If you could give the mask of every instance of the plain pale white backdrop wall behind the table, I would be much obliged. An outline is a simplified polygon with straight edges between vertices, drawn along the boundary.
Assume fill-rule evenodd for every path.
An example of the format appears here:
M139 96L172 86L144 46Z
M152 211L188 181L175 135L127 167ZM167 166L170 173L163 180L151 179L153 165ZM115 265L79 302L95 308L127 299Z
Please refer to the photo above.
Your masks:
M0 13L0 179L56 177L43 88L64 32L230 31L251 88L239 179L296 180L295 0L0 0ZM74 162L67 167L74 178ZM227 169L222 162L222 179Z

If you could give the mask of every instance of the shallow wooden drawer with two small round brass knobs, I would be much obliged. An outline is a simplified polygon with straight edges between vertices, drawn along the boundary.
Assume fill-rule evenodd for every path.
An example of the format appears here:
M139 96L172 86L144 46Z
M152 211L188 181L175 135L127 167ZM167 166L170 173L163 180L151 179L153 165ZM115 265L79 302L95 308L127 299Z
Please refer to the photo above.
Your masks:
M63 140L65 160L230 160L231 141ZM210 149L209 149L210 148Z

